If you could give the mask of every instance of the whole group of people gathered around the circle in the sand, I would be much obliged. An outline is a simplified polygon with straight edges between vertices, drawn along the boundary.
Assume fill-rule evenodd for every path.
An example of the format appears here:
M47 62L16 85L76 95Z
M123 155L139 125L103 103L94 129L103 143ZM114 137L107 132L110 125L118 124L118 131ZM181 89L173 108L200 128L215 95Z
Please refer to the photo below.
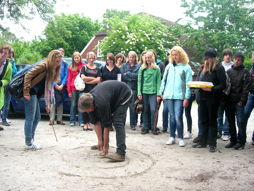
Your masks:
M10 55L9 47L1 47L1 98L7 92L2 87L8 84L13 74L13 65L8 64ZM193 147L205 148L209 145L209 151L215 152L217 138L222 136L223 140L230 139L226 148L244 148L247 121L254 105L254 65L248 71L244 67L242 53L233 55L230 49L226 49L223 51L224 61L219 62L217 52L208 49L198 72L194 72L187 53L180 46L174 46L169 51L167 62L164 63L158 60L154 50L142 52L140 59L135 51L130 51L127 58L122 53L108 53L106 65L101 68L94 64L94 52L87 54L87 63L82 62L79 52L74 52L70 66L62 59L63 56L62 48L52 50L43 63L37 64L25 75L22 99L25 103L24 129L28 149L40 149L34 144L35 130L40 120L39 98L45 97L46 110L50 112L49 124L55 123L56 110L56 123L65 125L62 121L65 94L71 98L70 126L78 123L86 131L93 130L90 124L94 124L98 145L93 148L103 151L104 156L108 154L109 130L113 124L117 151L110 158L115 161L125 159L124 129L128 108L130 128L136 130L139 118L135 110L137 99L143 102L140 124L144 135L150 131L154 135L160 133L157 127L158 111L163 103L162 132L169 131L166 144L172 145L178 140L180 147L185 146L184 138L190 138L192 134L190 113L192 102L196 99L198 136L193 140ZM78 91L74 85L77 75L86 84L82 91ZM212 82L213 87L191 89L188 83L193 80ZM0 101L0 108L5 105L3 100ZM184 111L188 126L185 136Z

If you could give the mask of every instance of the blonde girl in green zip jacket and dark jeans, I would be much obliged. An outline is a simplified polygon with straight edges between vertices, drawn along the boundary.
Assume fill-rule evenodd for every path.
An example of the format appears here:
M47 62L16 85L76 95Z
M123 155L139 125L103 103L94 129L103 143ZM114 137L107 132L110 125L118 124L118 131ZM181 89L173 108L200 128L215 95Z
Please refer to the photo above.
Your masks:
M153 133L157 134L155 129L155 111L160 96L160 84L160 68L156 65L153 51L147 51L145 54L145 62L138 71L138 99L143 100L144 106L144 128L141 132L142 134L149 133L149 129L152 129ZM148 125L149 114L151 119L151 127Z

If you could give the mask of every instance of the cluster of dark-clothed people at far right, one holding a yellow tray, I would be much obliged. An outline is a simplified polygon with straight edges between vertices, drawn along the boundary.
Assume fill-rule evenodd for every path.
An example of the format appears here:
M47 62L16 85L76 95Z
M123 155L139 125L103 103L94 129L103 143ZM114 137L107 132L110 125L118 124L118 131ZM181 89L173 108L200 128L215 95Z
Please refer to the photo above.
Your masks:
M193 147L209 145L210 152L214 152L217 138L224 133L223 140L230 140L225 148L244 149L247 121L253 109L249 103L254 85L253 69L244 67L245 58L240 52L233 55L230 49L225 49L222 63L216 57L213 49L205 52L205 63L198 76L200 81L213 82L214 87L197 92L199 136L194 139ZM254 143L254 136L252 140Z

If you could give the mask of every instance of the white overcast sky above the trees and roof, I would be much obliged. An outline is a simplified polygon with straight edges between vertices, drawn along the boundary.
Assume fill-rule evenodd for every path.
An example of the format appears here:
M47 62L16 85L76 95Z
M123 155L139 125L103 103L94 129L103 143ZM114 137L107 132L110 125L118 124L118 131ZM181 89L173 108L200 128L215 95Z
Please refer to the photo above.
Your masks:
M127 10L131 14L146 12L170 21L184 17L183 9L180 7L181 0L155 0L152 2L147 0L57 0L55 12L57 15L79 13L100 21L106 9ZM32 40L35 36L40 36L47 24L39 17L24 23L29 30L24 31L18 25L10 27L11 32L24 40Z

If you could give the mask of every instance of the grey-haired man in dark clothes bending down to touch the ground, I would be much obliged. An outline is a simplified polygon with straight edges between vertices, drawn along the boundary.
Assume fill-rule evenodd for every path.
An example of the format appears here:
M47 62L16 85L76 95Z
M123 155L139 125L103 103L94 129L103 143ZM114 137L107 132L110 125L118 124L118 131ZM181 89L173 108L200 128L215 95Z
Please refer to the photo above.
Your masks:
M128 85L116 80L98 84L79 99L79 110L87 112L94 124L98 138L98 150L115 162L125 160L125 120L132 91ZM114 124L116 130L116 153L108 155L109 128Z

